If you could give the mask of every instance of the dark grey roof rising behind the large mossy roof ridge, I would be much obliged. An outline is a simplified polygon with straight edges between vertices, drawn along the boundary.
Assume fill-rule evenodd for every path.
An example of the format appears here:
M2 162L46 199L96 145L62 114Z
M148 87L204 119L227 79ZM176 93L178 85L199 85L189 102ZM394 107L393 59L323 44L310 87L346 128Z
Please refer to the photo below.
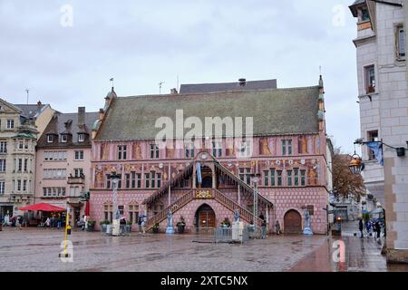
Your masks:
M240 85L239 82L191 83L181 84L180 93L242 92L276 88L277 80L250 81L246 82L245 85Z

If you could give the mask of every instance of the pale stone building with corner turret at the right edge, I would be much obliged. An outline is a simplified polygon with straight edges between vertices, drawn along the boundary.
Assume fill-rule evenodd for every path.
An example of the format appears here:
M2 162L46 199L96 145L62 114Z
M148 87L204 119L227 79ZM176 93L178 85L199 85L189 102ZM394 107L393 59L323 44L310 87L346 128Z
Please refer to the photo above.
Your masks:
M390 262L408 262L407 5L356 0L350 6L357 19L361 137L384 142L384 166L363 146L364 182L385 208Z

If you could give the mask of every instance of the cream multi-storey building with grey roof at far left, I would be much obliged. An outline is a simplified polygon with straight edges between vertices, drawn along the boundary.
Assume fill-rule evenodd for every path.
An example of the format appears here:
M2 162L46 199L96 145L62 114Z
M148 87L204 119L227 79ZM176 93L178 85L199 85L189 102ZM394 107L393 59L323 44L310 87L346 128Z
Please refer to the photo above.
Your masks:
M34 202L35 145L53 115L50 105L0 99L0 218Z

